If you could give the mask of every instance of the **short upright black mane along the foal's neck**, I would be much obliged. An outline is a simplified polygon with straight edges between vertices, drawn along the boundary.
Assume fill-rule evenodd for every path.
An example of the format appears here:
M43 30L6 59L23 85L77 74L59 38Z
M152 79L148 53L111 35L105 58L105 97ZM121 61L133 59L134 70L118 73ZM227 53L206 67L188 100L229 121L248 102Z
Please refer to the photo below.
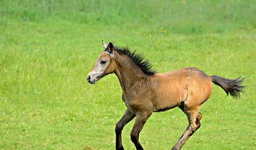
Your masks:
M150 64L149 61L145 59L143 55L137 54L136 51L131 52L128 47L126 48L114 47L114 49L118 54L124 54L130 57L133 60L133 62L137 66L139 66L146 75L154 75L156 73L156 71L152 69L152 64Z

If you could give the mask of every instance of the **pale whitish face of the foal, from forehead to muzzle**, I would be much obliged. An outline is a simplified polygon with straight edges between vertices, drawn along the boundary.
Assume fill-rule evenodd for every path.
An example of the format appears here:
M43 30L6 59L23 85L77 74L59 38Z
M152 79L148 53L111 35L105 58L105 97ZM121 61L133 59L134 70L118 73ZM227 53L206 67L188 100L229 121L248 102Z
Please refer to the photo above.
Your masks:
M108 58L100 59L100 57L101 54L95 62L94 70L88 74L91 83L98 81L104 75L104 71L109 65L110 60Z

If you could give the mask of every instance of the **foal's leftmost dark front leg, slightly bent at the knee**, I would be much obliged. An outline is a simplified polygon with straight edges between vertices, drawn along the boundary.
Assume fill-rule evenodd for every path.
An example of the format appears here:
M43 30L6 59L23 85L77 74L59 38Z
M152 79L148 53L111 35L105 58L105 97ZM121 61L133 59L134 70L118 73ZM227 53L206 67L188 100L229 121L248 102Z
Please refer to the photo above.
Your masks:
M116 140L115 140L115 149L121 150L123 149L122 146L122 129L125 124L130 122L134 117L135 113L133 113L129 108L126 109L125 113L123 114L122 118L116 123L115 126L115 135L116 135Z

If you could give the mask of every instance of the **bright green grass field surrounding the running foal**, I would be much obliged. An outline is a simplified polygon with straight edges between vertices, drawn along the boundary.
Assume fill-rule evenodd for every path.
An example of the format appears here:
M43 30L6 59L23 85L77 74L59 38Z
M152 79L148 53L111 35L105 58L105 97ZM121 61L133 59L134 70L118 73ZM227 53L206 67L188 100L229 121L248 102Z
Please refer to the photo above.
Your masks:
M2 0L0 16L1 149L114 149L125 110L118 80L86 82L101 40L144 53L158 72L246 77L240 100L214 86L182 149L256 149L256 1ZM135 149L133 122L125 149ZM154 113L140 141L170 149L186 125L177 108Z

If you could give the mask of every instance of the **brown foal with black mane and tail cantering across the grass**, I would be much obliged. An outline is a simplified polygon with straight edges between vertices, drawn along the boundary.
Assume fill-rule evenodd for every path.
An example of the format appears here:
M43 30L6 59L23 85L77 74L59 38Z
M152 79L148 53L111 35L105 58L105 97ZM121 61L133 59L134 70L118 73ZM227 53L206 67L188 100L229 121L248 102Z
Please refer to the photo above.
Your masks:
M103 42L103 41L102 41ZM134 117L131 139L136 149L143 149L139 134L152 112L166 111L179 107L187 116L188 126L172 147L180 149L199 127L202 104L211 96L213 83L220 86L233 98L240 97L243 79L226 79L208 76L203 71L188 67L172 72L156 73L142 55L103 42L104 51L99 55L87 76L94 84L102 77L115 73L122 88L122 100L127 109L115 127L116 149L123 149L121 131Z

